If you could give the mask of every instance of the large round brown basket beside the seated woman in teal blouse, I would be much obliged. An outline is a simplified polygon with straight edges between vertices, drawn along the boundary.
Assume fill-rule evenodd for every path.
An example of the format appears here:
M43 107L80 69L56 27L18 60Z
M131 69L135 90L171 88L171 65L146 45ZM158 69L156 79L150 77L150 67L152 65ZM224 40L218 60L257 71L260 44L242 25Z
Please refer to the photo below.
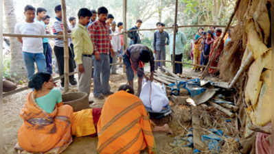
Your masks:
M84 92L62 94L62 102L71 105L73 112L78 112L89 108L89 98L87 96Z

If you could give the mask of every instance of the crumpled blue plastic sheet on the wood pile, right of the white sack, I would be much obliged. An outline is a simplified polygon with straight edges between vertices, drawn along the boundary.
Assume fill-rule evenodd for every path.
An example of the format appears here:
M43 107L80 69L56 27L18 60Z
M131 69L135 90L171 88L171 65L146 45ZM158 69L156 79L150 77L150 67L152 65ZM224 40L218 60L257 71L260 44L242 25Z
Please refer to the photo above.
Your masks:
M178 96L181 88L185 88L191 97L195 97L198 94L205 92L206 88L202 88L200 79L190 79L187 81L179 81L176 84L170 84L171 94Z

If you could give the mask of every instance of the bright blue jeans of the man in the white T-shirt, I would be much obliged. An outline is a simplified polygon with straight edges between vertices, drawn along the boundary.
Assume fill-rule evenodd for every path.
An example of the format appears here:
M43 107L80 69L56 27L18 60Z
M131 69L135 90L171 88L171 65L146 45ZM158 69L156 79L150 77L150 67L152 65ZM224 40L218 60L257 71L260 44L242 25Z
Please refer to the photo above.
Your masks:
M32 79L32 76L34 75L34 62L36 62L38 72L47 71L47 64L44 53L23 52L23 59L27 68L27 79Z

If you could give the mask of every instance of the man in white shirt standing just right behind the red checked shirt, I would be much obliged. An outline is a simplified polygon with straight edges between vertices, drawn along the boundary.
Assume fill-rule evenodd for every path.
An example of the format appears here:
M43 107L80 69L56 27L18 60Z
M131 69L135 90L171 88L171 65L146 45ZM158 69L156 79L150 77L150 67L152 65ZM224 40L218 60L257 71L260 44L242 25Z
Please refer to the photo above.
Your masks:
M115 21L113 21L113 23L111 23L111 34L117 34L117 33L118 31L116 31L116 23ZM115 64L117 62L117 53L122 49L121 38L119 35L111 36L111 45L115 53L115 55L112 57L113 58L112 63ZM116 65L111 66L111 74L116 75L117 74L116 70L117 70Z

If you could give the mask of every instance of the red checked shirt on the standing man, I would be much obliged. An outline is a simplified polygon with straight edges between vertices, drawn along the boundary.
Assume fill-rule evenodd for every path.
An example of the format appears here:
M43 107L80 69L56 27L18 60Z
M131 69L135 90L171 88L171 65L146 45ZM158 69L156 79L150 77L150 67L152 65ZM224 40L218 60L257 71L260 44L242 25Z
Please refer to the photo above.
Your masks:
M102 21L95 21L89 26L89 33L93 42L93 54L107 54L111 51L109 25Z

